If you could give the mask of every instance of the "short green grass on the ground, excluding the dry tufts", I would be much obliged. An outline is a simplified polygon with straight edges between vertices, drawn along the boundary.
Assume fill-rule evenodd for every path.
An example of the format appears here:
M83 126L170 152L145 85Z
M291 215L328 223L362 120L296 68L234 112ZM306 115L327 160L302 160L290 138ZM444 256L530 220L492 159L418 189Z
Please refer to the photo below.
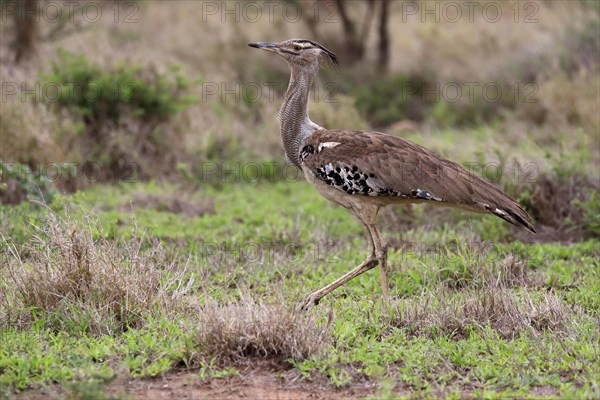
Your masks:
M198 216L135 206L143 204L136 199L149 195L167 203L182 196L179 190L157 183L97 186L59 196L48 207L1 206L3 236L28 257L35 226L43 226L49 213L68 213L80 225L88 223L85 215L95 214L97 239L143 234L160 240L185 264L195 278L186 296L192 310L209 301L217 310L235 311L232 307L243 308L244 301L291 310L303 295L366 256L359 223L305 183L202 187L185 193L190 203L213 205ZM410 212L422 222L428 210ZM394 242L390 249L391 311L382 308L379 273L368 272L310 311L314 329L325 332L319 336L322 349L282 362L304 379L326 379L333 387L373 380L379 384L375 398L397 392L409 397L597 397L598 241L527 245L510 241L512 228L499 219L462 215L450 212L439 224L410 229L386 221L386 237L404 239L404 246ZM10 262L6 242L3 249ZM0 289L14 296L7 271L1 264ZM465 305L484 304L486 291L514 303L525 322L507 328L503 311L496 318L483 306L477 315L461 314ZM141 327L112 335L86 334L71 325L57 330L52 313L23 312L31 315L21 326L4 325L0 331L0 393L9 396L58 384L71 396L98 397L122 374L154 377L181 369L217 379L239 374L240 357L252 357L242 352L221 359L211 353L198 339L207 320L189 309L150 314ZM235 312L231 315L235 318ZM457 321L464 323L458 333L453 331ZM240 334L246 328L235 327Z

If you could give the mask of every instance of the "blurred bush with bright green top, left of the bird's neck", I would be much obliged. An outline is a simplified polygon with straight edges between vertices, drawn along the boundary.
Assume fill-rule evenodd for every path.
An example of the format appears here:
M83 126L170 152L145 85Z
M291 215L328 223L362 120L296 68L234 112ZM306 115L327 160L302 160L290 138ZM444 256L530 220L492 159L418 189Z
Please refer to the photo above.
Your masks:
M195 101L178 67L164 74L124 64L105 71L83 55L61 51L42 82L56 88L47 98L80 121L84 168L93 164L98 179L133 171L147 178L175 166L181 140L168 122Z

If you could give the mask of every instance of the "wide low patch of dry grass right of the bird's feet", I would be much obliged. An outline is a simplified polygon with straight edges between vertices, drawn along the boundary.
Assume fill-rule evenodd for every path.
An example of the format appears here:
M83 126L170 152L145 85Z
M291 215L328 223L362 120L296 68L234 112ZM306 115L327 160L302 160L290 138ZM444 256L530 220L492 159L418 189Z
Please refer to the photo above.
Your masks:
M488 287L482 291L428 292L397 307L393 326L412 336L465 339L488 328L504 339L525 332L565 331L574 312L552 293L533 297L527 290Z

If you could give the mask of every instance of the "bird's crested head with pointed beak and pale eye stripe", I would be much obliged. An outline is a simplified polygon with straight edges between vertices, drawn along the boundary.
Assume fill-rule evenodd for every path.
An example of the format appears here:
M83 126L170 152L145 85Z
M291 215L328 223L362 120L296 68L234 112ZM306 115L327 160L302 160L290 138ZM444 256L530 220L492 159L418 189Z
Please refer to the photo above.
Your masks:
M317 42L306 39L289 39L283 42L257 42L248 46L279 54L290 66L318 67L322 59L338 65L336 55Z

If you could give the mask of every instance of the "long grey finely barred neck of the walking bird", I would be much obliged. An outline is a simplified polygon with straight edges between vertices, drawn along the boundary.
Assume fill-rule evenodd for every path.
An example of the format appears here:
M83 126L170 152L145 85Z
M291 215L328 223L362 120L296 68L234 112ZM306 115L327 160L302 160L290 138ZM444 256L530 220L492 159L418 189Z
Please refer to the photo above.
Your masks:
M308 118L308 95L316 76L311 68L291 68L290 83L279 110L285 155L300 168L300 146L318 125Z

